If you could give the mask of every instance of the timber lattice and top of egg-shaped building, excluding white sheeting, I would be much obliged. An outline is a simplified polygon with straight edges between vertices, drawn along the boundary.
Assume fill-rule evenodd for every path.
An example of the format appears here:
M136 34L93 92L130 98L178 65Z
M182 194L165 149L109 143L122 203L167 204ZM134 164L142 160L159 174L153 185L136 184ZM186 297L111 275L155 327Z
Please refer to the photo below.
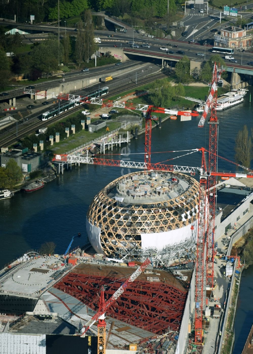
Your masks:
M193 224L198 216L198 188L196 179L175 172L141 171L115 179L89 207L87 222L98 238L92 239L88 231L91 244L101 244L107 256L119 255L122 248L141 249L143 234Z

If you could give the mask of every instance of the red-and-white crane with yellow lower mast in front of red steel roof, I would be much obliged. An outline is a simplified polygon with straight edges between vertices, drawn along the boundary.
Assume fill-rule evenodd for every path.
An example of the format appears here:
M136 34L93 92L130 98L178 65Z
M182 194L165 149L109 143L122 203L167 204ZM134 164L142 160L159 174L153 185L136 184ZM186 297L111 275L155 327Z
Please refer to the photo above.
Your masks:
M140 267L138 267L135 272L129 276L129 278L120 286L116 292L105 302L104 289L102 287L100 294L100 303L98 312L86 323L86 325L81 329L81 337L85 336L85 333L90 329L90 327L98 321L97 325L97 353L105 354L106 351L106 322L105 322L105 312L106 310L117 300L117 298L122 295L122 293L127 289L128 284L133 282L144 269L151 264L150 259L146 259Z

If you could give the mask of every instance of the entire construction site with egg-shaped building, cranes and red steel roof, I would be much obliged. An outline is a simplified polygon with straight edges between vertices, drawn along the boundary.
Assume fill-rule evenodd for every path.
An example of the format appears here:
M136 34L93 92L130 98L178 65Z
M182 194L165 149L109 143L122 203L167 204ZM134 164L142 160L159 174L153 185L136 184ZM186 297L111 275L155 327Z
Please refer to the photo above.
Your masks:
M199 121L203 127L210 110L209 150L197 149L199 167L151 163L152 113L184 112L147 105L129 106L145 112L143 163L55 155L62 169L74 162L145 171L112 181L94 197L86 216L89 245L71 250L78 234L64 255L30 252L0 272L0 312L10 314L1 322L1 353L9 354L6 348L18 341L22 347L33 343L34 353L49 353L52 334L75 338L66 339L65 350L84 339L89 354L220 350L230 289L241 272L231 247L250 227L253 200L245 183L251 171L217 171L222 71L214 64Z

